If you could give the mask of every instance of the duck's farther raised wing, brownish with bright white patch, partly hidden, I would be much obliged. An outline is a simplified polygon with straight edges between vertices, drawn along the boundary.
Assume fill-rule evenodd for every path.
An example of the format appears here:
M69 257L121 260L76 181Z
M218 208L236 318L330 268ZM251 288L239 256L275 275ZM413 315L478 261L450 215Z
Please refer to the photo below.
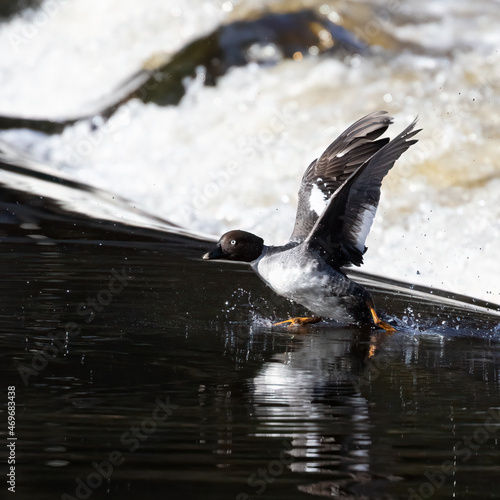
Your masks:
M343 132L306 169L291 241L302 241L311 232L333 193L389 142L378 139L392 123L386 111L371 113Z

